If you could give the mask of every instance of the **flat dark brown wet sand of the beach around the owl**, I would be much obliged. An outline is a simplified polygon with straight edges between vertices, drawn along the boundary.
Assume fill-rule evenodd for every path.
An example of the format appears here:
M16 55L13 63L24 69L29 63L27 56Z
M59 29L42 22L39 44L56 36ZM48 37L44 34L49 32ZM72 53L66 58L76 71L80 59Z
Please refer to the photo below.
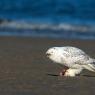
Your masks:
M52 63L45 52L63 45L95 58L95 41L0 37L0 95L95 95L95 73L57 76L63 66Z

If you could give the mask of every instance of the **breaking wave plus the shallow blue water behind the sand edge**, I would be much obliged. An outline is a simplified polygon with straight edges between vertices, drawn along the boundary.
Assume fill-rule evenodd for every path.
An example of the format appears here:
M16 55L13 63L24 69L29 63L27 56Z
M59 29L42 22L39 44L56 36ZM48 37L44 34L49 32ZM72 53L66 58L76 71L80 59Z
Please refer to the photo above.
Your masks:
M25 21L2 21L0 36L30 36L65 39L94 39L94 25L70 23L33 23Z

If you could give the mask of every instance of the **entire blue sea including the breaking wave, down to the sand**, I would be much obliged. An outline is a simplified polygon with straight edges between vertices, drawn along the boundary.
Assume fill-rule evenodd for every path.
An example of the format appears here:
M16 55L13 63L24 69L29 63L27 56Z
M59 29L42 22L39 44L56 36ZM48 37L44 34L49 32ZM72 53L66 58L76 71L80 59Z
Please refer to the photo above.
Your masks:
M0 0L0 35L95 39L95 0Z

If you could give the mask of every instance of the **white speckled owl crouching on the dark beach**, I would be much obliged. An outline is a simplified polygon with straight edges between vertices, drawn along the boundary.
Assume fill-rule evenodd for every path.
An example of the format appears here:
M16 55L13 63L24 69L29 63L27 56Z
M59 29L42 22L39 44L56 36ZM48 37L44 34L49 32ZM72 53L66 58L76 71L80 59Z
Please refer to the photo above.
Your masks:
M95 59L76 47L52 47L47 50L46 56L55 63L66 67L60 72L60 76L74 77L83 69L95 72Z

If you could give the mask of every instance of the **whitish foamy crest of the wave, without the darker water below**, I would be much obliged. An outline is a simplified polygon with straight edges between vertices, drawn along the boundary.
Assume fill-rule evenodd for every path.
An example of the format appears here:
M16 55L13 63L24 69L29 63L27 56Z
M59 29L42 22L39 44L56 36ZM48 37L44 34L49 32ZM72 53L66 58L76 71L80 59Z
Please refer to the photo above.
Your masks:
M51 31L75 31L75 32L95 32L95 25L80 25L69 23L32 23L25 21L3 21L0 28L28 29L28 30L51 30Z

